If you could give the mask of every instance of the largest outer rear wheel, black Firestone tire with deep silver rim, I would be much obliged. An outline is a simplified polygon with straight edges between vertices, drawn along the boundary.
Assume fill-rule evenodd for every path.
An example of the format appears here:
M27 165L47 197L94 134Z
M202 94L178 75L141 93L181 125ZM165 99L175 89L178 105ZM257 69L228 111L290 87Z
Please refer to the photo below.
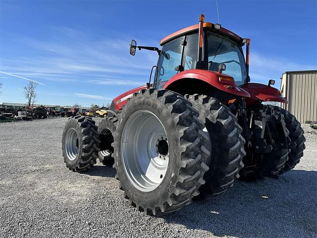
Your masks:
M115 178L139 211L164 215L191 203L205 183L208 137L182 96L144 89L123 108L116 128Z

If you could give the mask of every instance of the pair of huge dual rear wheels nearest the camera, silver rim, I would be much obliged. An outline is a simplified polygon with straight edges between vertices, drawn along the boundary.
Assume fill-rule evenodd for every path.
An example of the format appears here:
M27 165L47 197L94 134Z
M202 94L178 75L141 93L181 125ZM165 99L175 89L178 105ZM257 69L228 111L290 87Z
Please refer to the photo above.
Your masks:
M221 194L243 167L241 131L215 99L141 90L122 110L116 129L120 188L133 206L154 215L178 210L194 197Z

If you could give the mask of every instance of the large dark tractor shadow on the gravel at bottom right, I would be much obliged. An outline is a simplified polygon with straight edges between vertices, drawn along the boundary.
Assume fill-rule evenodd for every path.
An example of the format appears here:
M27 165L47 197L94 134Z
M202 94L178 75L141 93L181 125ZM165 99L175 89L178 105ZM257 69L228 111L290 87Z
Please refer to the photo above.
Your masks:
M278 180L237 181L226 194L194 202L165 221L221 237L316 237L316 204L317 172L293 170Z

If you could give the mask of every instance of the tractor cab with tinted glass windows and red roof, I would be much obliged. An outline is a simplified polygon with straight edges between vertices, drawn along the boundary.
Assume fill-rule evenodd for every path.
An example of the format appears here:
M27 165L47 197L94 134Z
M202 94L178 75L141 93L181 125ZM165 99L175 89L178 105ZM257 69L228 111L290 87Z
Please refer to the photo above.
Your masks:
M221 72L231 76L236 85L246 83L248 72L242 51L243 39L234 33L232 37L221 32L219 24L205 23L203 29L201 56L198 25L173 33L161 41L154 87L163 88L177 73L193 69Z

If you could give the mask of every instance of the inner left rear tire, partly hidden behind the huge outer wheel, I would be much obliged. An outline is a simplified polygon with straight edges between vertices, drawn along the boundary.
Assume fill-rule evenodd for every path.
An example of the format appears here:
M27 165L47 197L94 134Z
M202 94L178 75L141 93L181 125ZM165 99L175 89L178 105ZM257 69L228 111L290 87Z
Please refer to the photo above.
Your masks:
M209 171L204 179L206 184L200 188L198 199L210 199L224 193L233 186L243 168L242 158L245 139L242 128L230 109L214 98L205 95L185 95L199 112L211 140Z

